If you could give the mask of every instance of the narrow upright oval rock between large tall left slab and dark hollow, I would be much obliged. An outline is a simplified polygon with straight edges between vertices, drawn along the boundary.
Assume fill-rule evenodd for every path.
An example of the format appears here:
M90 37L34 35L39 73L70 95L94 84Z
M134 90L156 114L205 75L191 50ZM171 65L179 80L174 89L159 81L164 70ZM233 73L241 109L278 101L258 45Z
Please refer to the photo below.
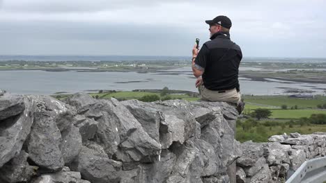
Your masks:
M63 156L65 165L69 165L80 153L81 150L81 134L79 129L74 125L63 130L61 133L62 141L60 143L60 150Z

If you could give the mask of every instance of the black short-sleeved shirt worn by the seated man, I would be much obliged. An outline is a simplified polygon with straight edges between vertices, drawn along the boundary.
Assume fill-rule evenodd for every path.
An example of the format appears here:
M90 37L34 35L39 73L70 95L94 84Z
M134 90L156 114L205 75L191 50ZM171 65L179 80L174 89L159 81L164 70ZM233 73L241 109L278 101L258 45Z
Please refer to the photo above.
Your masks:
M229 33L219 32L203 44L194 67L204 71L205 88L215 91L236 88L240 91L238 73L241 59L240 46L230 40Z

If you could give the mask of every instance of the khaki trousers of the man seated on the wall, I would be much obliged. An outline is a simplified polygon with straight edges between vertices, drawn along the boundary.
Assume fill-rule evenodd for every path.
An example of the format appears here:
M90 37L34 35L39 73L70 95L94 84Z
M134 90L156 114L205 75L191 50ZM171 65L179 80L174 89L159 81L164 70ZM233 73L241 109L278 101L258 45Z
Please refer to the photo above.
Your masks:
M212 101L212 102L228 102L235 103L238 105L241 101L240 92L237 92L237 89L228 89L225 92L213 91L205 88L203 83L198 87L199 94L201 94L201 99L203 101Z

